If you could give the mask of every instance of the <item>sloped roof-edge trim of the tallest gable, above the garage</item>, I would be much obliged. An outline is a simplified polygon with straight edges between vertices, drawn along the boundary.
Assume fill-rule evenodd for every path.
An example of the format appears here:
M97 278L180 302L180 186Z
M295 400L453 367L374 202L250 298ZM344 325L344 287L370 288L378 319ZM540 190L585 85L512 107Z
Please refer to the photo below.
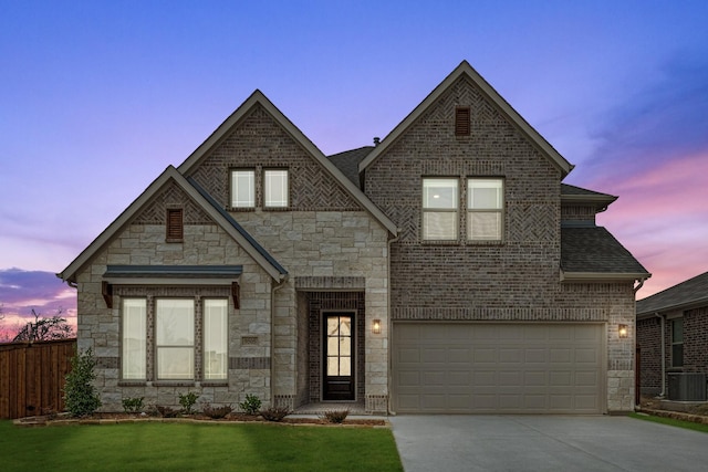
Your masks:
M561 170L561 178L564 178L573 170L573 165L545 140L499 93L467 62L464 60L437 87L428 94L420 104L413 109L364 159L360 166L360 172L371 166L388 147L391 147L437 99L450 88L458 78L467 76L478 87L497 109L504 115L521 133L528 136L529 140L539 151L544 155L558 169Z

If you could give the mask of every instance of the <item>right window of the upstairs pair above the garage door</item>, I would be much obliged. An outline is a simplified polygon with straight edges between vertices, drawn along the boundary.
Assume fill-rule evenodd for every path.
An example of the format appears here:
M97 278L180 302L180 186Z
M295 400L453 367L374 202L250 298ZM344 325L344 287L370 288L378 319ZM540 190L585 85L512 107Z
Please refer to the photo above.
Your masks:
M467 180L467 239L500 241L503 233L504 187L502 179Z

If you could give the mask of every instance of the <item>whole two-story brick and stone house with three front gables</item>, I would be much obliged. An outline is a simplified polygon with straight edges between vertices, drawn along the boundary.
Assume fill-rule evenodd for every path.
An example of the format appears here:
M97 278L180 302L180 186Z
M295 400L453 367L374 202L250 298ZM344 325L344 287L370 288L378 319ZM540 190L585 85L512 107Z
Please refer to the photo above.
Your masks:
M375 144L327 158L257 91L168 167L59 274L104 409L632 410L649 274L595 225L616 197L467 62Z

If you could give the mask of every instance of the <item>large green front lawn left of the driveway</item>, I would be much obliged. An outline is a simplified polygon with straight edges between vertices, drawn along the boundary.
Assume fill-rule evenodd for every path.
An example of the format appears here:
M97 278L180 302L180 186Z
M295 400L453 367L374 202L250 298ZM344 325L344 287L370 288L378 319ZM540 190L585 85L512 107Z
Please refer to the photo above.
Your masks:
M0 421L3 471L403 471L389 429Z

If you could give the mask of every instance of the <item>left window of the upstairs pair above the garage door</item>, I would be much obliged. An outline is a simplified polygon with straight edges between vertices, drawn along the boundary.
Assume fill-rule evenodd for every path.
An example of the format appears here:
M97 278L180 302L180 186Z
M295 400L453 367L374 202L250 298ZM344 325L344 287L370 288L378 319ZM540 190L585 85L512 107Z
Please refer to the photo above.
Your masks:
M456 240L458 234L458 179L423 179L423 239Z

